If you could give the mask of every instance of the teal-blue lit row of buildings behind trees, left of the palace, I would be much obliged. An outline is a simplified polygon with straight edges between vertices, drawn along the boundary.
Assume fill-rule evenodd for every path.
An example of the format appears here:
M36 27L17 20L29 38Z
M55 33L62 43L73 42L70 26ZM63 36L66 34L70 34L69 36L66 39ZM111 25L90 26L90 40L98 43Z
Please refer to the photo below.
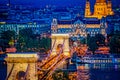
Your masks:
M0 33L2 31L15 31L16 34L19 34L19 31L21 29L28 29L31 28L34 34L43 34L43 33L51 33L50 24L44 22L44 20L39 21L37 23L26 23L26 22L6 22L3 24L3 22L0 22Z

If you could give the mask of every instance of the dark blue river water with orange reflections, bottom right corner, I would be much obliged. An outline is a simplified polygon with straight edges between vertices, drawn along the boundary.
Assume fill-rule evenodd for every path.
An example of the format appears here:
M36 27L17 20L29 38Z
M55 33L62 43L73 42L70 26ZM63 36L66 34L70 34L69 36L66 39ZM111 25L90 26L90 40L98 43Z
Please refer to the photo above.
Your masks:
M120 64L78 64L78 80L120 80Z

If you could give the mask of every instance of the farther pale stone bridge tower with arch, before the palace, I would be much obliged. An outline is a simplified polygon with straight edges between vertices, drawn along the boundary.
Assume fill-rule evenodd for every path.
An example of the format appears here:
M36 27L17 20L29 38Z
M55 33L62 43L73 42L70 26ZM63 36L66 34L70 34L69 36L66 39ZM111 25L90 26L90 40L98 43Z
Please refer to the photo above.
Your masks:
M69 34L52 34L52 53L51 55L57 54L57 46L61 44L63 46L63 54L65 56L70 56L69 50Z

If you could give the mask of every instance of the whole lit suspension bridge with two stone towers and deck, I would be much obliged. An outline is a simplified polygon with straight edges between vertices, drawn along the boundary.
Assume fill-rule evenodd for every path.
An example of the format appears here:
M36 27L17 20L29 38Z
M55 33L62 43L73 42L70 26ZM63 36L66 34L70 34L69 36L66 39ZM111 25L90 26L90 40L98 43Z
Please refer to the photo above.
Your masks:
M5 80L49 80L54 70L70 57L69 34L52 34L50 55L40 66L37 53L9 53Z

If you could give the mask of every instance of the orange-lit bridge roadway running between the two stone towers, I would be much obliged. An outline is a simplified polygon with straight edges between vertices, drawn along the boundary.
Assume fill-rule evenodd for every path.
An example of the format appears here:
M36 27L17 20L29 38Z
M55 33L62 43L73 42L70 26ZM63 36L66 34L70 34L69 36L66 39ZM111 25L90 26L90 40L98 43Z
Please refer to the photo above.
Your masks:
M39 65L37 67L39 80L48 80L58 65L65 61L66 58L63 53L60 53L49 57L42 65Z

